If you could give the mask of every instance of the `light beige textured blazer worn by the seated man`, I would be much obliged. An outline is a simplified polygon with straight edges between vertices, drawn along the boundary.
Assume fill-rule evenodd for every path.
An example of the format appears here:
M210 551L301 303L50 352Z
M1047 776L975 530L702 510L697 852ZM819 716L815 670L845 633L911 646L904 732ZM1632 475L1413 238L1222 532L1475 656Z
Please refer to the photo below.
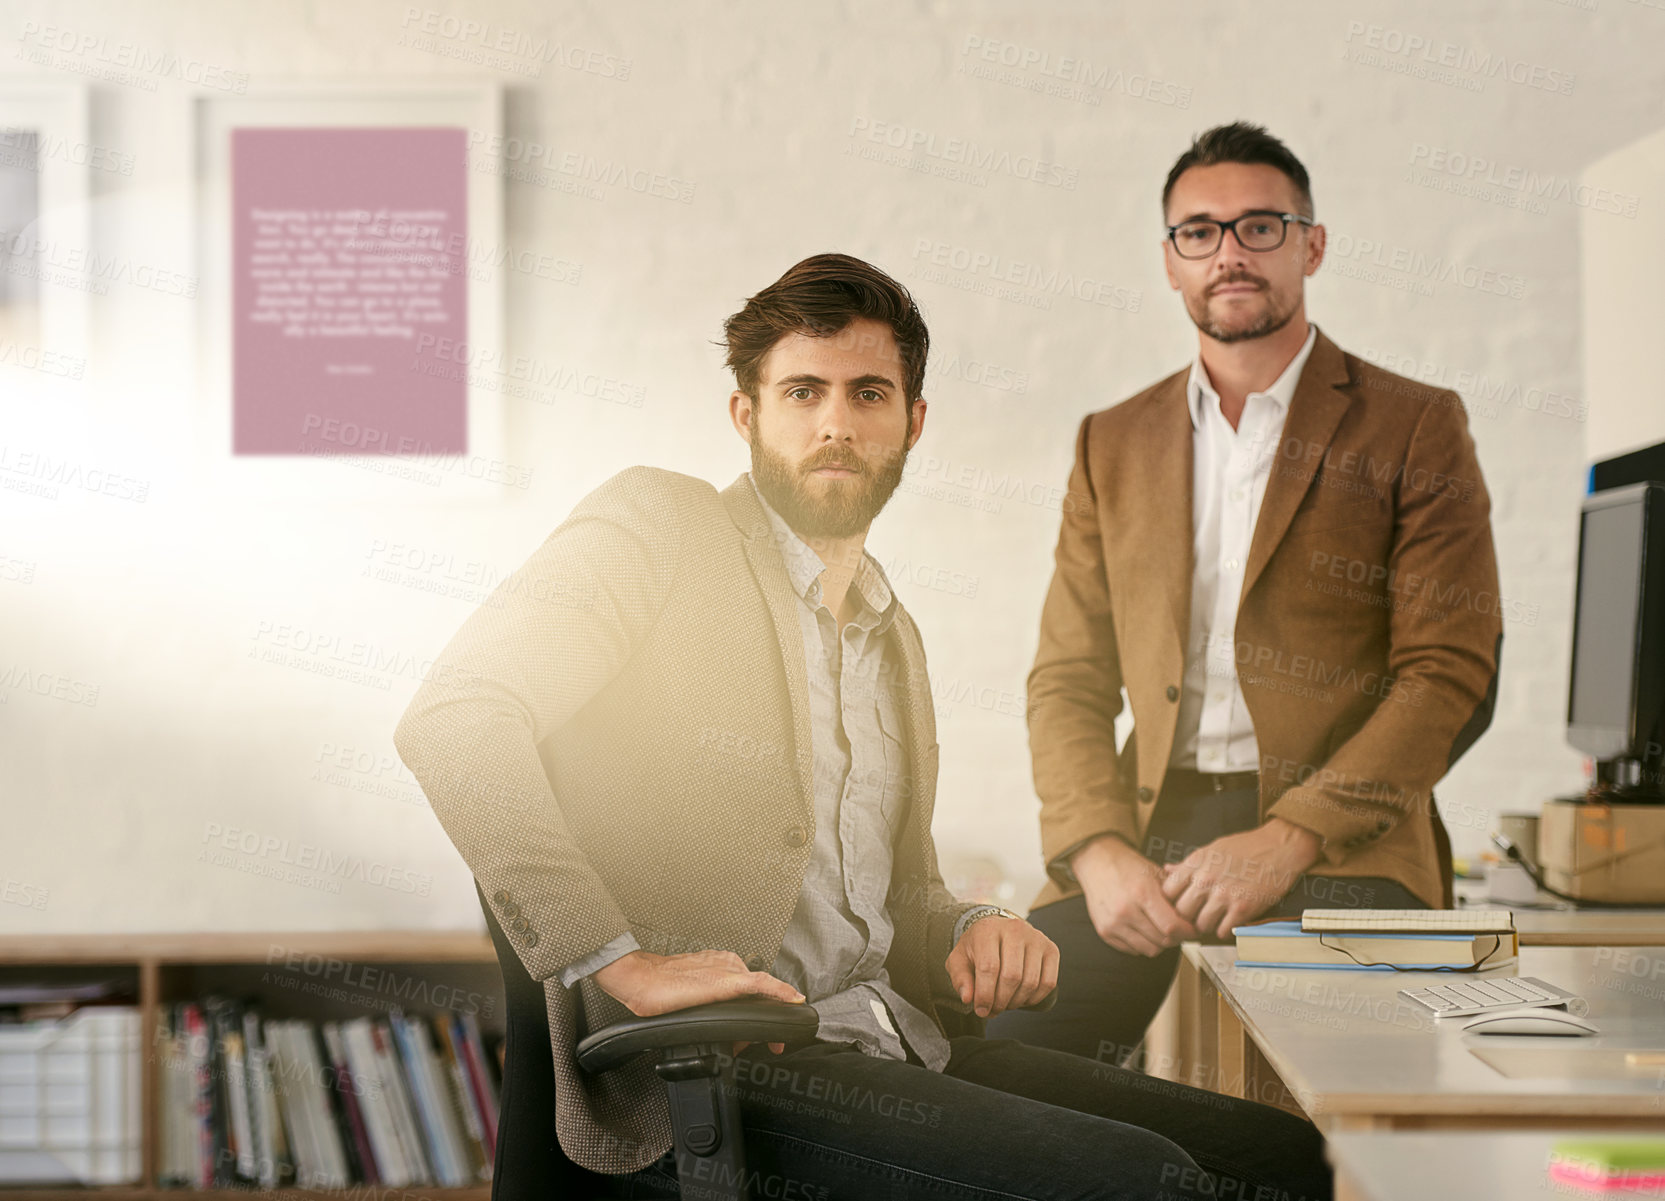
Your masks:
M631 468L589 493L440 653L393 735L533 979L574 1163L634 1171L671 1146L646 1061L573 1048L624 1008L568 964L631 931L648 951L774 961L816 835L798 598L746 476ZM931 840L937 736L924 645L891 625L911 763L889 908L891 984L967 1014L944 959L971 908ZM956 1026L959 1018L951 1019Z

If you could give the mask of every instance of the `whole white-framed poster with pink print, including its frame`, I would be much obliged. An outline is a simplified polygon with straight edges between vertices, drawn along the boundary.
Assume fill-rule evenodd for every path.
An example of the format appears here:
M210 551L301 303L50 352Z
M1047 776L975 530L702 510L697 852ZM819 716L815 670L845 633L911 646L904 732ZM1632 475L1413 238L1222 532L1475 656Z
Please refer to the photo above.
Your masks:
M200 460L233 495L500 500L495 85L195 102Z

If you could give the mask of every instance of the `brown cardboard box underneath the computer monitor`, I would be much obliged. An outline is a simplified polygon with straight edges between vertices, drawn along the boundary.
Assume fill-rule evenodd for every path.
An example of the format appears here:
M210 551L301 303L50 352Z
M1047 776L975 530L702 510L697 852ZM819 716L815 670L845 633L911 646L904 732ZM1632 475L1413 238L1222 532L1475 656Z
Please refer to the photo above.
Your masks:
M1665 903L1665 805L1545 801L1538 866L1582 901Z

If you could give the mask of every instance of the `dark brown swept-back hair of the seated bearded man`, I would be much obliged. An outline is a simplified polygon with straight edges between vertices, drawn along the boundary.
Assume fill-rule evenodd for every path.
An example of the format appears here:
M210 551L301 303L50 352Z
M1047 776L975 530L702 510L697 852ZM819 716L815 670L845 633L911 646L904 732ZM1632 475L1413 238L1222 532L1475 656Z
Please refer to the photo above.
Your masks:
M758 396L758 371L781 338L808 333L826 338L857 318L891 326L902 356L907 411L924 391L931 335L912 295L872 263L851 255L811 255L746 301L723 323L728 366L748 396Z

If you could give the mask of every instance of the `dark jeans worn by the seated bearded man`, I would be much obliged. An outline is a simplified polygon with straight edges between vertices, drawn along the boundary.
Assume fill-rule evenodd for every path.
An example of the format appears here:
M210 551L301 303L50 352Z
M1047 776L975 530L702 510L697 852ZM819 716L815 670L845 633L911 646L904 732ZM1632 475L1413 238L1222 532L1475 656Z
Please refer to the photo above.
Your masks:
M1317 1129L1280 1109L1012 1039L942 1073L813 1043L736 1059L756 1198L1156 1201L1330 1196ZM678 1196L671 1158L611 1196ZM696 1196L694 1188L688 1196Z

